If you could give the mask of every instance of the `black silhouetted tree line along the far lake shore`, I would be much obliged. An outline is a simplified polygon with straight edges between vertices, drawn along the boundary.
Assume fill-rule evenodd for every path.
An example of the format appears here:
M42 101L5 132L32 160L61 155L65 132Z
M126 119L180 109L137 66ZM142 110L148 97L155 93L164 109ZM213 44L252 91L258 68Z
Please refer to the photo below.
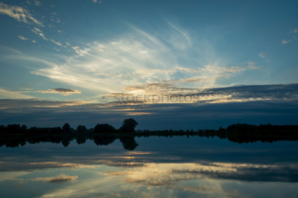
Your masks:
M250 124L232 124L227 128L219 127L218 130L206 129L197 130L193 129L184 131L178 130L158 130L149 131L145 130L135 130L139 123L132 118L125 119L122 126L118 129L114 128L112 125L107 123L97 124L94 128L87 129L84 125L78 125L76 129L72 128L67 122L61 127L30 127L27 128L26 125L20 124L9 124L7 126L0 125L0 134L97 134L97 133L143 133L143 134L198 134L198 133L224 133L224 134L237 134L244 136L298 136L298 125L250 125Z

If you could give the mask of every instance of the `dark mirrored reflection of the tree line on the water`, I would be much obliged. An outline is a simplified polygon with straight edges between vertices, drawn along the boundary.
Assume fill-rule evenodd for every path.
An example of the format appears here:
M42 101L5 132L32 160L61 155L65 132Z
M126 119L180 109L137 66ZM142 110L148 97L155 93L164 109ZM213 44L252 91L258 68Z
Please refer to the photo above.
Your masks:
M87 140L93 140L93 142L97 146L107 146L109 144L114 143L117 139L122 143L122 146L125 150L134 150L139 146L138 142L136 142L135 137L144 137L147 138L152 135L125 135L125 136L94 136L94 135L61 135L61 136L4 136L0 138L0 147L19 147L24 146L26 143L29 144L37 144L42 142L51 142L56 144L62 144L64 147L67 147L71 142L76 142L77 144L84 144ZM173 137L173 136L187 136L187 138L191 138L194 136L200 137L219 137L220 139L228 139L231 142L241 143L252 143L252 142L276 142L276 141L297 141L298 137L292 136L245 136L245 135L235 135L235 134L163 134L156 135L159 137Z

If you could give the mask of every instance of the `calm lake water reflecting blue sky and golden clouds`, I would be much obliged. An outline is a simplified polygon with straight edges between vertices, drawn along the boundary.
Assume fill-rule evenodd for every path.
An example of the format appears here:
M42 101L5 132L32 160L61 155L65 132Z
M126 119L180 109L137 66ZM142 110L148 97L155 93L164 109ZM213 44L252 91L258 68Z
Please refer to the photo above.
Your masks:
M298 197L297 146L185 135L2 139L0 197Z

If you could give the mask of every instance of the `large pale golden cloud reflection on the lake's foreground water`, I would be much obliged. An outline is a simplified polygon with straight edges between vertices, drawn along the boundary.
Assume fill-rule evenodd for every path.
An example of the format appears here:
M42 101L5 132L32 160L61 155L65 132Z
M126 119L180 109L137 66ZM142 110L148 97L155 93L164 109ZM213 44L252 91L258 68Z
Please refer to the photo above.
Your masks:
M229 171L234 171L234 169L230 169L230 167L238 167L238 164L226 164L226 166L225 164L221 164L221 166L223 169L217 171L215 171L215 169L214 172L223 171L229 174ZM239 164L239 166L243 167L246 165ZM247 164L247 166L254 165ZM209 174L205 171L206 169L207 166L205 165L193 163L147 163L143 167L131 167L125 169L124 171L118 170L100 172L99 176L102 175L105 179L98 180L96 178L91 178L83 181L80 185L74 184L72 186L67 186L64 189L44 194L42 197L69 197L70 195L83 197L90 194L102 194L103 192L103 196L109 195L110 197L125 196L127 193L129 193L130 196L147 195L149 197L154 197L156 193L158 193L160 197L163 193L170 193L171 190L173 194L182 192L195 193L191 194L191 197L203 195L209 195L211 197L218 197L221 195L229 197L241 196L237 190L225 188L225 184L228 182L227 180L223 178L218 179L218 177L213 176L209 177ZM181 172L178 172L178 170ZM185 172L185 170L189 170L189 172ZM201 172L198 173L193 170L200 170ZM188 186L184 186L185 182L191 181L195 181L195 183L189 183ZM237 180L237 183L239 182L245 182L245 180ZM104 189L102 187L103 183L105 183L104 186L108 185L108 187L105 187ZM81 187L82 185L89 186L89 190L83 190ZM110 191L111 189L113 189L113 192ZM115 191L115 189L117 190ZM167 196L169 196L169 194L167 194Z

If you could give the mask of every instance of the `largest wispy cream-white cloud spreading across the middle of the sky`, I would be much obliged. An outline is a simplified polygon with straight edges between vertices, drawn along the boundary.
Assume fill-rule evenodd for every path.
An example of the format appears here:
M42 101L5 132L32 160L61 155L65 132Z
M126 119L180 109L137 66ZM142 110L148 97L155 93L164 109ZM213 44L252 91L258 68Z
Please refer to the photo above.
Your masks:
M194 46L189 43L190 36L185 30L178 26L169 29L172 31L172 37L177 35L183 38L181 41L186 43L187 50L193 49ZM36 34L42 33L37 28L32 31ZM174 40L172 43L169 42L161 40L157 35L132 27L131 32L105 42L94 41L86 44L80 42L79 45L75 45L67 41L65 46L62 42L53 42L63 47L70 46L76 53L68 57L61 56L60 58L65 60L62 64L55 63L52 59L46 60L44 57L20 57L45 64L45 67L32 72L35 75L46 76L52 81L65 82L99 93L122 92L126 86L163 82L188 83L190 87L215 87L216 81L220 78L259 69L254 62L227 65L216 58L212 58L212 61L208 59L210 63L207 65L199 64L201 62L199 58L194 59L191 64L181 65L178 59L189 59L185 54L185 48L176 48L174 44L172 45L175 43ZM202 52L206 53L204 56L209 55L209 52L204 50Z

